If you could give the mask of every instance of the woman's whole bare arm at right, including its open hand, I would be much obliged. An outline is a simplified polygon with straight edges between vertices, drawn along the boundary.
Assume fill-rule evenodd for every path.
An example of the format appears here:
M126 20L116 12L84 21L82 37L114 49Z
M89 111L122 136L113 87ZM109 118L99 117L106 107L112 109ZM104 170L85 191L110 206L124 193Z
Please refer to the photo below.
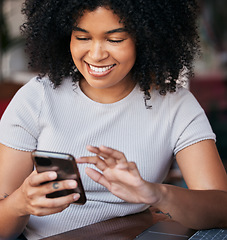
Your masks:
M157 207L190 228L227 227L227 177L212 140L177 154L190 189L144 181L135 163L127 162L124 154L116 150L105 147L88 150L97 156L80 158L78 163L95 164L103 174L89 168L87 174L116 196Z

